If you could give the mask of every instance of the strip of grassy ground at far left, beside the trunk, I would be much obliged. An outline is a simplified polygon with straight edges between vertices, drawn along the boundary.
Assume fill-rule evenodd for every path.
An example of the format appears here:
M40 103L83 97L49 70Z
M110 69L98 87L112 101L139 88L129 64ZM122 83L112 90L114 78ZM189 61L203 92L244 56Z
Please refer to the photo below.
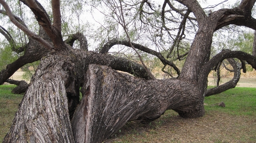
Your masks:
M12 94L15 85L0 85L0 142L9 131L23 95Z

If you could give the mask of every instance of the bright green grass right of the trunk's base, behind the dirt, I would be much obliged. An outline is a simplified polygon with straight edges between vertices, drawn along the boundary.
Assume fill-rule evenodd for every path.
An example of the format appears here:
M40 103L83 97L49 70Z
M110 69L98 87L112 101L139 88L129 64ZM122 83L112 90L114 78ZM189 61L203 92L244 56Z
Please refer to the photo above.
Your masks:
M218 102L224 102L226 107L214 106ZM256 88L233 88L217 95L206 97L204 102L208 104L205 110L219 110L232 115L256 116Z

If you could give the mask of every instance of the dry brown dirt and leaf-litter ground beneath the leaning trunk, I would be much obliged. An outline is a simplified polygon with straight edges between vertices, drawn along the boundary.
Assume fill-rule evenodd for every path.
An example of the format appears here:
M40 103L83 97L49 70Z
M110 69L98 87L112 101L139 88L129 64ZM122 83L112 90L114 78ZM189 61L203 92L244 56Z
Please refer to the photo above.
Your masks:
M105 143L256 143L254 118L218 111L197 119L163 115L151 125L128 125Z

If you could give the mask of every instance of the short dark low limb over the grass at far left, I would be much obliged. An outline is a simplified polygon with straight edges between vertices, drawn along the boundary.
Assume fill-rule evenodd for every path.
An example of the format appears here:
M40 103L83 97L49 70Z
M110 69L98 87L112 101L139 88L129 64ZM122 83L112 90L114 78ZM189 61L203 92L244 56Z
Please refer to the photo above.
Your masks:
M18 81L18 80L13 80L13 79L7 79L6 82L17 86L16 88L12 89L12 93L14 93L14 94L25 93L29 86L27 84L27 82L24 80Z

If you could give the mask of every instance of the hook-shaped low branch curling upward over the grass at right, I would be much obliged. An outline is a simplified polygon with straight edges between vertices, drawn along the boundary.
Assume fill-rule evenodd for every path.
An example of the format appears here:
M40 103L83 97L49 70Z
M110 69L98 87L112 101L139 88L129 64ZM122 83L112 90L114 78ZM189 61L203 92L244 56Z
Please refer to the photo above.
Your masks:
M226 91L230 88L235 88L237 82L240 79L240 66L235 62L235 60L233 58L229 58L227 59L229 61L229 63L231 64L231 66L234 69L234 77L233 79L231 79L230 81L226 82L225 84L222 84L220 86L217 86L216 88L210 88L206 91L205 97L211 96L211 95L215 95L215 94L219 94L223 91Z

